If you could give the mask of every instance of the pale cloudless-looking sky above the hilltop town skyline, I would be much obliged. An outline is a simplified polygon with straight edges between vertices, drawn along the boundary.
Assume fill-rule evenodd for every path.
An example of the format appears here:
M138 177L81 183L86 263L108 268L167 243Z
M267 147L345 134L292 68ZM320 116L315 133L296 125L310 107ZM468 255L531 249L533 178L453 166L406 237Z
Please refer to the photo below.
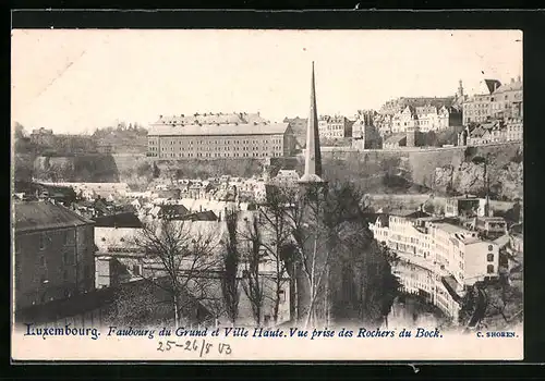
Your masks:
M85 133L159 114L352 116L400 96L449 96L462 79L522 74L518 30L12 30L12 121Z

